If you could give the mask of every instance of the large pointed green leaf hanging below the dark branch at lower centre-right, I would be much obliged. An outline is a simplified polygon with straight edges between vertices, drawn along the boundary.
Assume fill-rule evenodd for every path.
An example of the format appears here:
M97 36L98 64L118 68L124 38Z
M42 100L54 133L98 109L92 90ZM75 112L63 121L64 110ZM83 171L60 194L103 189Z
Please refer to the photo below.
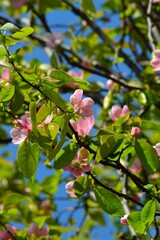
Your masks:
M114 217L122 217L124 215L123 206L119 198L103 187L94 187L95 196L100 207L108 214Z

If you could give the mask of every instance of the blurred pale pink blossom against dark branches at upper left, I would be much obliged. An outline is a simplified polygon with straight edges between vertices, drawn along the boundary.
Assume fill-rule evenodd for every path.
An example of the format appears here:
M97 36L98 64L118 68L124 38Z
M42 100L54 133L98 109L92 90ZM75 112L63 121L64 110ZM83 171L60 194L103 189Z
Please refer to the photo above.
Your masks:
M46 34L47 45L51 48L56 48L59 44L62 43L63 39L64 35L60 32Z

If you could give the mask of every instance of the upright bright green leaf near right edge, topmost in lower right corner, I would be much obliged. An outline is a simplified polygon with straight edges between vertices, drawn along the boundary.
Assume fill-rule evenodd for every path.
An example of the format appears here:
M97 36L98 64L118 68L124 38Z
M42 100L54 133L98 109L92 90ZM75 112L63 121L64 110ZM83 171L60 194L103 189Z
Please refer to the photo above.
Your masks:
M149 200L141 211L141 219L144 224L151 224L154 220L156 211L156 201L154 199Z

